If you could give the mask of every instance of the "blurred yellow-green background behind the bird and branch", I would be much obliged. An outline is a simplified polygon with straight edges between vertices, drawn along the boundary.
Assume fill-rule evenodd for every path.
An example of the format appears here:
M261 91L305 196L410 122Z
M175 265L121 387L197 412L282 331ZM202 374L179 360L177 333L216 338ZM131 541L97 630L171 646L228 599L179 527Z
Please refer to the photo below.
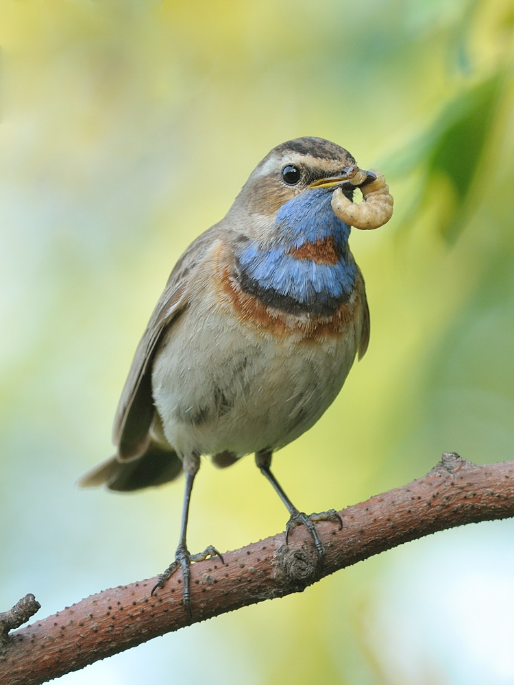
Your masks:
M352 234L371 345L276 456L304 510L514 443L514 6L507 0L2 0L0 610L162 571L182 484L81 491L175 260L278 143L387 177ZM253 459L201 469L190 548L283 530ZM514 683L514 527L410 543L62 677L75 685Z

